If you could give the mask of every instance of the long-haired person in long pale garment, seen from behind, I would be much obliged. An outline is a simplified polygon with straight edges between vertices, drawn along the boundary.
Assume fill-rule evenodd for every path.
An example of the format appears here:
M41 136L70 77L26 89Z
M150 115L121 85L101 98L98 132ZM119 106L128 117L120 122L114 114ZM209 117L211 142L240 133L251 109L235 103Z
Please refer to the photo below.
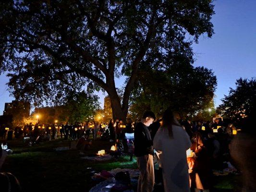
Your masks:
M154 148L162 152L159 163L165 192L190 192L186 150L191 141L170 108L163 114L162 126L153 143Z

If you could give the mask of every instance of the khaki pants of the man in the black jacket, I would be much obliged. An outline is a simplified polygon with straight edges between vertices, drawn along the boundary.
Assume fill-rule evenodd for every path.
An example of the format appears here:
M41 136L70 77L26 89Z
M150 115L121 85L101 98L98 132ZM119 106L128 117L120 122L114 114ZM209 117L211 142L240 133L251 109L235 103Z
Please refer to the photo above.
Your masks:
M155 182L153 156L139 156L137 164L140 170L137 192L152 192Z

